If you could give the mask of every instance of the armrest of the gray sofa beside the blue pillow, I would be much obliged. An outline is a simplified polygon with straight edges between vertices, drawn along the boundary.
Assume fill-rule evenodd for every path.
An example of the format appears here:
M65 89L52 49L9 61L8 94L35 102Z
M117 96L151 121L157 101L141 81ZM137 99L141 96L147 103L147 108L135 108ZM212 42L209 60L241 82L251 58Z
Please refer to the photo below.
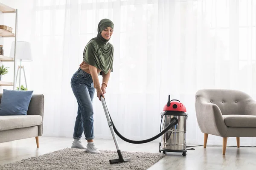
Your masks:
M42 124L38 126L38 136L43 134L44 123L44 95L33 94L29 103L27 115L40 115L42 116Z

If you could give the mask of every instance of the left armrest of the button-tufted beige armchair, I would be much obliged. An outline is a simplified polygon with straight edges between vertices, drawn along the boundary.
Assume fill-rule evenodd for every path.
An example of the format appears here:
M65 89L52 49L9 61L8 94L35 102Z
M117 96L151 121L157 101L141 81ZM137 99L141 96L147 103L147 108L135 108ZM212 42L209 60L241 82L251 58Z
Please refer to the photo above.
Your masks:
M195 101L195 111L201 132L226 137L228 127L217 105L198 96Z

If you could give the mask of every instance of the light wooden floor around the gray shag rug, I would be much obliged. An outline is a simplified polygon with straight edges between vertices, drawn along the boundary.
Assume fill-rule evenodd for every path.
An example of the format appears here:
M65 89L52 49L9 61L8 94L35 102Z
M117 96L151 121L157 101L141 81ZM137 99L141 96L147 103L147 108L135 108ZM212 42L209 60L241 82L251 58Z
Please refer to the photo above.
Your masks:
M59 137L39 137L40 147L35 138L0 143L0 164L39 156L55 150L70 147L73 139ZM95 139L100 150L116 150L113 140ZM84 144L86 142L84 141ZM130 144L119 141L121 151L158 153L158 142ZM194 147L185 157L181 153L166 153L166 156L148 170L255 170L256 147L227 147L222 155L222 147Z

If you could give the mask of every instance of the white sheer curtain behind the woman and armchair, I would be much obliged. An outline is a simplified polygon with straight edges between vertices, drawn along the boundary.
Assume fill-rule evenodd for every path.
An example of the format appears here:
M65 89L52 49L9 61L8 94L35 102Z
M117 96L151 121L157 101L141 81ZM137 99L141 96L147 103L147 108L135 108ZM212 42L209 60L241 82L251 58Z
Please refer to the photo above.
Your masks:
M202 144L194 106L197 90L238 89L256 97L255 0L35 2L32 47L37 56L30 87L45 95L45 136L73 136L77 103L70 78L102 18L115 25L106 102L123 136L142 140L159 133L160 113L170 94L189 114L187 143ZM96 138L111 139L101 102L95 98L93 105ZM222 139L209 136L208 144L222 144ZM256 139L243 138L242 144L256 144Z

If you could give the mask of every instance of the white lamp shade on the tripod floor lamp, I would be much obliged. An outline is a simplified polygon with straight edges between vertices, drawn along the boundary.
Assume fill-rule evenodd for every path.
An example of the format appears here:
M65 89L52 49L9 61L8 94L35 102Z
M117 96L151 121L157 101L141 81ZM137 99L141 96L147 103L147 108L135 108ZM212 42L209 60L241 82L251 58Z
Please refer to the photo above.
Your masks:
M15 42L12 42L10 57L14 57L14 49L15 49ZM22 61L32 61L31 46L29 42L17 41L16 59L22 59Z

